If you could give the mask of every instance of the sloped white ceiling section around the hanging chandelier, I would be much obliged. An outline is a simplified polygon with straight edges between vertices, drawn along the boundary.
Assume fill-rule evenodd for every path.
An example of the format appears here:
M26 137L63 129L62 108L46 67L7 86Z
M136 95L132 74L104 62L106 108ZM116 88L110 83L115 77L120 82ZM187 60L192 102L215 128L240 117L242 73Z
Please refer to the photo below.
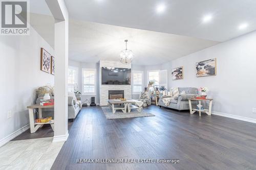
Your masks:
M69 29L69 57L82 62L118 60L120 51L125 49L125 39L137 65L162 64L218 43L86 21L70 20Z

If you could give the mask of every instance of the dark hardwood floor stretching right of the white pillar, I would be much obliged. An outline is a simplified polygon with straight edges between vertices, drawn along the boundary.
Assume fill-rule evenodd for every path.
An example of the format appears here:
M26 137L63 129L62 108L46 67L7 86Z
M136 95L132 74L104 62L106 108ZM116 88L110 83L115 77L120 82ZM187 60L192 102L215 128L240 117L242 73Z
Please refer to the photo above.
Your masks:
M157 106L154 117L106 119L83 107L52 169L256 169L256 125ZM163 163L76 163L76 159L179 159Z

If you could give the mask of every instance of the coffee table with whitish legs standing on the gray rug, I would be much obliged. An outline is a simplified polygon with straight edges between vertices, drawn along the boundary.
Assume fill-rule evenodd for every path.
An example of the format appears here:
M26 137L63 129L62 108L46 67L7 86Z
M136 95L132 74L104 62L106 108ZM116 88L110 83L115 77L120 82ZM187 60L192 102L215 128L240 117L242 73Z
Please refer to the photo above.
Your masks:
M112 108L112 113L114 114L116 110L122 110L124 113L128 110L128 113L131 112L132 109L137 109L138 112L141 112L142 106L138 107L133 104L135 104L136 100L108 100L109 106Z

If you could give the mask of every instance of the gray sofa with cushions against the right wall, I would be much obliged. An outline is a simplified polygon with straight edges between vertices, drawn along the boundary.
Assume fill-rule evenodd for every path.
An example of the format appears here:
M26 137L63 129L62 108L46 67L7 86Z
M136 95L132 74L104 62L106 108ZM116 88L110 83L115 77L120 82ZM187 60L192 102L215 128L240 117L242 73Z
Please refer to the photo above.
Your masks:
M179 87L179 92L185 91L186 94L180 94L177 99L174 99L170 101L170 104L168 106L165 106L163 103L163 96L162 93L160 93L160 99L159 99L159 106L160 107L167 107L171 109L176 110L189 110L189 104L188 104L188 98L192 98L193 96L198 95L198 90L195 87ZM193 107L197 105L197 101L191 101Z

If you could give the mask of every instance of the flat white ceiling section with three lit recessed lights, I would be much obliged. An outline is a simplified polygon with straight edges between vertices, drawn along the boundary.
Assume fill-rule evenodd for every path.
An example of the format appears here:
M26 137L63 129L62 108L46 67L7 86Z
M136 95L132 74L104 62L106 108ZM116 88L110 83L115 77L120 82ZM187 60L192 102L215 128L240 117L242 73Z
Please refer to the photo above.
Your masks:
M65 0L73 19L226 41L256 30L254 0ZM157 13L161 3L166 10ZM205 15L212 20L202 23ZM239 30L241 23L249 27Z

